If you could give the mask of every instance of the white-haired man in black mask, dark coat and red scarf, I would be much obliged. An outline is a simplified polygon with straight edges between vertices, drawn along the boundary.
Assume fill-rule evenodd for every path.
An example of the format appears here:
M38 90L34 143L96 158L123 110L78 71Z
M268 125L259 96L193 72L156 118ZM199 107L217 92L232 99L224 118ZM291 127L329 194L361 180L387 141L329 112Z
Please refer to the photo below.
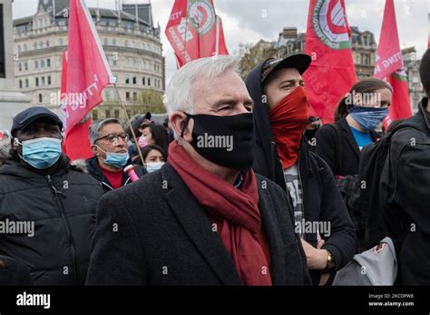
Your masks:
M167 88L168 162L99 204L89 285L307 285L287 194L251 166L253 102L229 56Z

